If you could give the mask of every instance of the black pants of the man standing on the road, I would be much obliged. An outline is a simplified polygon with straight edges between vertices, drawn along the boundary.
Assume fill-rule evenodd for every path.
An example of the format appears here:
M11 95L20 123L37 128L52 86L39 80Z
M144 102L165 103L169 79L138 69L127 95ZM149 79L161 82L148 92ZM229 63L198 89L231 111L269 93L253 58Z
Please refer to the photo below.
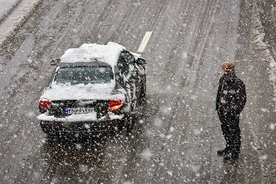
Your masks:
M218 112L221 121L221 130L226 141L226 147L232 154L239 154L241 149L240 119L232 115L225 115Z

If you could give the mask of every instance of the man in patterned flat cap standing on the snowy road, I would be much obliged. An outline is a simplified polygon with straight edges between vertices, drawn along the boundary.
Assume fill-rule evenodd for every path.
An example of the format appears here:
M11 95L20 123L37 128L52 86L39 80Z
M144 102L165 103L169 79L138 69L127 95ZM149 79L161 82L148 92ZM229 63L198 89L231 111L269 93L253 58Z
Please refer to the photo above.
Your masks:
M219 80L216 97L216 111L221 122L221 130L226 147L217 154L229 160L238 158L241 148L241 131L239 116L246 102L246 91L243 81L236 76L234 62L227 61L221 65L224 71Z

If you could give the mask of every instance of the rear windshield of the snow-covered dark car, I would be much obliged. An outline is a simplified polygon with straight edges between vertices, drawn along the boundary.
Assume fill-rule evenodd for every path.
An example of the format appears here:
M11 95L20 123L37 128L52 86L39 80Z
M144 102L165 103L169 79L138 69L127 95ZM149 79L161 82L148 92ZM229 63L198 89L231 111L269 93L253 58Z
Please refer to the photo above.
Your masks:
M62 67L55 75L57 83L65 84L102 84L113 80L113 71L110 66L77 66Z

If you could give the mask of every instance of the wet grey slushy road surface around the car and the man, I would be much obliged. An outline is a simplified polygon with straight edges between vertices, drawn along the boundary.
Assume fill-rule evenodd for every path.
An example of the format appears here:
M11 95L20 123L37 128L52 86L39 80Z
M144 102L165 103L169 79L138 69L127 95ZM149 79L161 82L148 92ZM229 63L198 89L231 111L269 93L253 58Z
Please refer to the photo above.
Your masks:
M268 16L258 19L259 7L264 13L273 6L256 0L42 1L0 47L0 183L275 183L274 60L261 40L271 25L259 25ZM133 135L47 138L36 117L53 70L49 61L87 42L112 41L138 52L146 32L152 32L141 53L147 102L137 110ZM248 101L240 157L224 163L216 155L225 142L214 110L227 60L235 60Z

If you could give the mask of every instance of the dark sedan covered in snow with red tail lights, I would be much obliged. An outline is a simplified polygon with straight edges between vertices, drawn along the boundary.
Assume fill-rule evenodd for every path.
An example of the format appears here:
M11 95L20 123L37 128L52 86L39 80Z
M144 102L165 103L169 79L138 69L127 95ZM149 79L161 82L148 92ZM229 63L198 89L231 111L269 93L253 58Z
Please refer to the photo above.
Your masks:
M39 100L46 134L128 129L137 102L146 95L146 60L125 47L83 44L59 59Z

